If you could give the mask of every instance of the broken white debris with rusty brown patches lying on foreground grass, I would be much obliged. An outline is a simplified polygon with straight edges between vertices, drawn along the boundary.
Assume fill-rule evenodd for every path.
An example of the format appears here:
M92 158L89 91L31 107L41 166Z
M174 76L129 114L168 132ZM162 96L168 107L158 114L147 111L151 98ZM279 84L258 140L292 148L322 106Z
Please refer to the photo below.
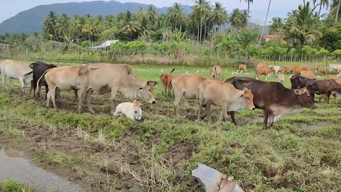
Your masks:
M243 192L243 189L232 181L232 177L226 178L226 175L204 164L197 164L192 176L200 182L206 192Z

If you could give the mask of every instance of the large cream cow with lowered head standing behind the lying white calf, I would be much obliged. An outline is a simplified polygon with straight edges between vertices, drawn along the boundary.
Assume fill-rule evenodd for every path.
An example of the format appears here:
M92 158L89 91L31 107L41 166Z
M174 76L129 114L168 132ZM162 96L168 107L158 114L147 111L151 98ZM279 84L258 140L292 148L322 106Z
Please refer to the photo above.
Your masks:
M82 96L86 95L87 107L94 113L90 105L92 92L99 94L111 92L112 110L117 92L131 100L141 97L150 104L156 103L153 96L153 86L156 84L155 80L144 82L137 78L130 65L97 63L82 66L77 78L78 112L82 111Z

